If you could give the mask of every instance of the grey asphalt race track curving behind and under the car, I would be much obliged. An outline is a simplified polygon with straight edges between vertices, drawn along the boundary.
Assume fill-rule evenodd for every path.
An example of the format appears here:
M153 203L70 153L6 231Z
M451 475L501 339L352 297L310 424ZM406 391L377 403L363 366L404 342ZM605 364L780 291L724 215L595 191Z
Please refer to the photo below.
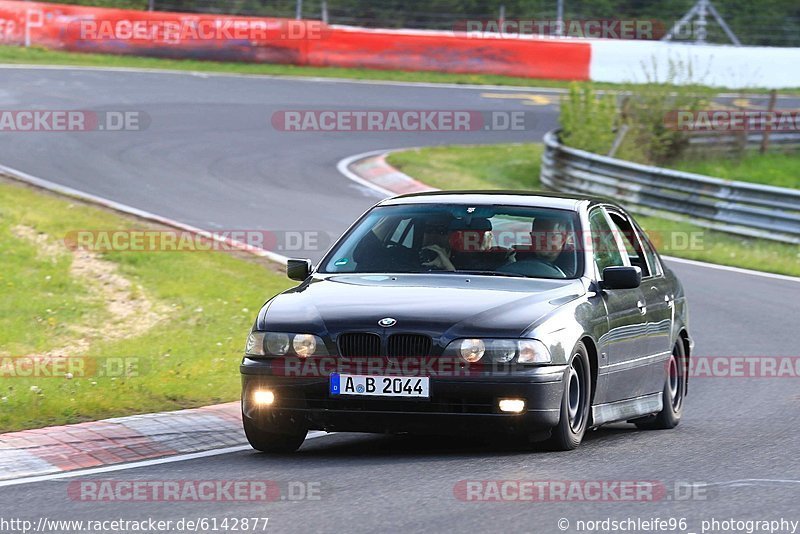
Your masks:
M519 96L547 100L547 93L520 89L18 68L0 70L0 80L0 109L132 109L151 118L141 132L3 133L1 164L209 230L335 234L380 198L337 172L342 158L393 147L535 141L557 117L554 103ZM524 131L449 134L287 133L269 123L280 110L356 108L523 110L535 120ZM672 266L690 298L698 356L797 356L798 282ZM306 481L320 484L317 500L76 502L63 479L0 488L0 510L33 520L269 517L276 532L551 533L562 531L561 518L570 522L566 532L576 532L578 520L629 517L685 517L687 528L672 531L700 532L700 522L712 518L800 520L798 380L695 378L675 430L613 425L569 453L334 434L291 456L242 451L84 477ZM668 494L655 502L498 503L464 502L454 493L459 481L509 479L658 481ZM698 488L694 498L677 498L676 484Z

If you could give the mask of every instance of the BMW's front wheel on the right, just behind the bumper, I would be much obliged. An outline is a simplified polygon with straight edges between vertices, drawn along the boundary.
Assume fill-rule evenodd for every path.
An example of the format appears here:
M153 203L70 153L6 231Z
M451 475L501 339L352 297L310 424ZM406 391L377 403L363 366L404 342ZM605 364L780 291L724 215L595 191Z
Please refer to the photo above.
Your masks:
M578 342L567 363L564 394L561 398L561 417L553 428L548 445L557 451L570 451L580 445L589 423L592 399L592 371L589 353Z

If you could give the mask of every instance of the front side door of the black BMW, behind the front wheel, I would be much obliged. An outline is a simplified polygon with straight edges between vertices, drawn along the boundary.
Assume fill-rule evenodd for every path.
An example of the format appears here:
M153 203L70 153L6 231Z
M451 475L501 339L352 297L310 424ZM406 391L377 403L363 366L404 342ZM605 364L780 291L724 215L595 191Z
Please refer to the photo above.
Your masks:
M589 212L589 228L598 281L602 281L606 267L630 266L621 237L602 206ZM608 332L599 340L606 358L605 365L601 359L599 369L604 387L598 388L600 397L595 397L595 402L614 402L649 393L652 371L649 362L642 359L646 304L641 288L603 290L599 298L606 308Z

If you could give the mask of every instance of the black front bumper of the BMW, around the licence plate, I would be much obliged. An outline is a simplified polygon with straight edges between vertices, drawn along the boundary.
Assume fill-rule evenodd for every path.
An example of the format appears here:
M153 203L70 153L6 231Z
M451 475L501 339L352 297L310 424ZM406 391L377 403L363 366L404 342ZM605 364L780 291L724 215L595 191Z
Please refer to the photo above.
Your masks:
M558 424L565 366L532 367L503 376L431 377L429 399L331 396L328 377L272 374L268 360L245 359L242 416L263 429L282 425L329 432L410 432L427 434L525 433ZM258 407L257 389L275 402ZM500 412L498 401L520 398L526 410Z

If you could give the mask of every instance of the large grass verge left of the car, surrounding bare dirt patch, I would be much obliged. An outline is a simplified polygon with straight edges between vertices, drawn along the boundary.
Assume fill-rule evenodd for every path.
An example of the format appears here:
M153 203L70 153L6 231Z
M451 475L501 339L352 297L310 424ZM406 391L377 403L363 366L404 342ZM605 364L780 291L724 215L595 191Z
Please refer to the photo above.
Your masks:
M107 325L106 303L55 257L15 235L32 227L57 244L76 229L152 229L132 218L0 183L0 361L55 350ZM163 229L163 228L162 228ZM0 377L0 432L232 401L256 312L290 285L274 264L225 252L112 252L104 259L145 294L163 320L136 337L99 339L85 354L135 362L129 376ZM108 327L108 326L106 326ZM133 359L133 360L131 360ZM7 360L6 360L7 361ZM32 390L32 388L34 388Z

